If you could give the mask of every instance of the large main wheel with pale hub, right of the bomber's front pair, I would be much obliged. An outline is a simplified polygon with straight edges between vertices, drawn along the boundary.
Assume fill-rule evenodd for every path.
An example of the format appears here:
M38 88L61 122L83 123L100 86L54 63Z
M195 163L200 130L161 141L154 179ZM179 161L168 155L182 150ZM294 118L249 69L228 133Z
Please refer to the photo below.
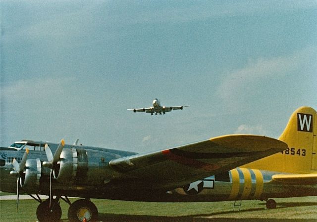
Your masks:
M95 204L89 200L76 200L68 209L69 222L82 222L98 220L98 210Z

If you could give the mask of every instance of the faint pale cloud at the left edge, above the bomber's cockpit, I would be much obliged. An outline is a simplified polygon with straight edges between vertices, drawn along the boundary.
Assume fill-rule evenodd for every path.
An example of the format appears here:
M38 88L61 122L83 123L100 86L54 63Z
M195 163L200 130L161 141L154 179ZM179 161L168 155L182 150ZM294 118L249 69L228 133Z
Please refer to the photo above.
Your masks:
M69 106L73 96L68 87L73 78L23 79L1 87L2 112L54 112ZM67 95L67 96L65 96ZM32 114L34 115L34 114Z

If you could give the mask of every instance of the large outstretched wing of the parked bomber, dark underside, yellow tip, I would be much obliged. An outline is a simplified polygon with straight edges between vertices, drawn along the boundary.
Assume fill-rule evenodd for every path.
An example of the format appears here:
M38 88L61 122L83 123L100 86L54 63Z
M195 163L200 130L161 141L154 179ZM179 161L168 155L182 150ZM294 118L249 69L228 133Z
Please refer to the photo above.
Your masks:
M140 189L171 190L286 149L286 143L259 135L225 135L209 140L114 159L114 180ZM133 183L133 184L132 184Z

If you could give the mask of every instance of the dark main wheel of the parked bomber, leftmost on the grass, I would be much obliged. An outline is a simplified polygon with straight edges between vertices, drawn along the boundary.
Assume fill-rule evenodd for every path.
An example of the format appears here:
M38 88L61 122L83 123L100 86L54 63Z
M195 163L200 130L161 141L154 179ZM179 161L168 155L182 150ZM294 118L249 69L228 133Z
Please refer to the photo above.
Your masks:
M36 217L40 222L56 222L61 218L61 208L59 203L54 203L52 199L50 210L50 200L45 200L36 209Z

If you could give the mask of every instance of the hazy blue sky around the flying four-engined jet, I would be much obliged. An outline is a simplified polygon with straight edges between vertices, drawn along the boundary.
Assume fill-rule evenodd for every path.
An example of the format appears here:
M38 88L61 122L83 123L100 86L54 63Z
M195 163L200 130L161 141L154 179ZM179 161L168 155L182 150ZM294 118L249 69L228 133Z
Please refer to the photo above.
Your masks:
M0 145L278 137L317 108L317 1L1 0ZM128 108L190 105L162 116Z

